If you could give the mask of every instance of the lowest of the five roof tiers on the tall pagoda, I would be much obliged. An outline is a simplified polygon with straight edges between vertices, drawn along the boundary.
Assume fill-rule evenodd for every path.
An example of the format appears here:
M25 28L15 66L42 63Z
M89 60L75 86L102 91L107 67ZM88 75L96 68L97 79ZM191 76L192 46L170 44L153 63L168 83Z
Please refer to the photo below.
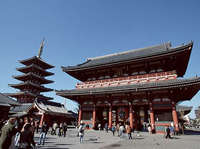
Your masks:
M31 97L31 98L37 98L37 99L44 99L44 100L52 100L53 98L51 98L51 97L46 97L46 96L44 96L44 95L41 95L41 94L39 94L39 95L37 95L37 94L34 94L34 93L31 93L31 92L27 92L27 91L25 91L25 92L18 92L18 93L8 93L7 94L8 96L10 96L10 97L13 97L13 98L23 98L23 97Z

